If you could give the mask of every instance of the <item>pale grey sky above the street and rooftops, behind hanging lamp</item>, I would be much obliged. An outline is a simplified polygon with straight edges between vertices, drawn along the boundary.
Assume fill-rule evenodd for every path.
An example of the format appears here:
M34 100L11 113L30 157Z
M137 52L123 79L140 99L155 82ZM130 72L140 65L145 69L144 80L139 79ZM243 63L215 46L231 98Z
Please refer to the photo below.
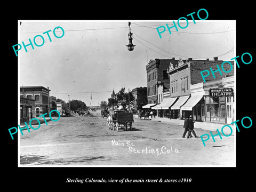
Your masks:
M113 89L117 92L123 86L126 91L147 86L146 65L150 59L212 60L222 54L219 60L235 57L235 21L189 21L188 27L179 28L178 33L172 28L170 35L166 29L162 38L156 28L166 27L166 23L172 26L172 20L130 22L136 45L133 51L125 46L129 43L128 21L21 20L18 43L28 44L29 38L33 42L36 35L44 36L45 43L34 45L34 50L27 46L28 52L22 47L18 52L20 86L49 86L50 95L62 100L68 101L69 94L70 100L98 105L110 98ZM58 26L65 35L55 38L50 32L50 42L43 32ZM36 39L38 44L41 41Z

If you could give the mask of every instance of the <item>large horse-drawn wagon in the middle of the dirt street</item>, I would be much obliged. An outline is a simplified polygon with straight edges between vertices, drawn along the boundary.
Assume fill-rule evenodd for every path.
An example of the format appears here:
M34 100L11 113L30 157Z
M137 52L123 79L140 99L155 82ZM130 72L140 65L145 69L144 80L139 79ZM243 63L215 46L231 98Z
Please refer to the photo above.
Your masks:
M124 129L125 131L129 129L132 130L133 113L126 113L123 110L115 111L113 115L108 116L109 129L118 131L119 129Z

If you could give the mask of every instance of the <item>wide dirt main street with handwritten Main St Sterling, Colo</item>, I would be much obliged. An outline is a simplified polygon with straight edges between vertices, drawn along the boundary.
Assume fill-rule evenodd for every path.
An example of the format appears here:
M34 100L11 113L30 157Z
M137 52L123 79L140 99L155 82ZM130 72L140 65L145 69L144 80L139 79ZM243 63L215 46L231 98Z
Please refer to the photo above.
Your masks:
M235 166L234 136L182 138L181 125L134 118L132 131L108 129L107 119L92 116L61 117L20 134L22 165L175 165ZM198 136L209 133L195 129ZM217 133L217 132L216 132Z

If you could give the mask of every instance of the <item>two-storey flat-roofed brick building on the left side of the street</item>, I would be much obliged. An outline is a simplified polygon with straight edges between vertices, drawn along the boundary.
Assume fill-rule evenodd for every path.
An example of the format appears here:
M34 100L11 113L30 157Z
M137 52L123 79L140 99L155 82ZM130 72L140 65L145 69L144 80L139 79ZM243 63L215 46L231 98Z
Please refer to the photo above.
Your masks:
M49 90L50 92L51 90ZM48 114L49 92L44 86L21 86L20 97L35 100L35 116Z

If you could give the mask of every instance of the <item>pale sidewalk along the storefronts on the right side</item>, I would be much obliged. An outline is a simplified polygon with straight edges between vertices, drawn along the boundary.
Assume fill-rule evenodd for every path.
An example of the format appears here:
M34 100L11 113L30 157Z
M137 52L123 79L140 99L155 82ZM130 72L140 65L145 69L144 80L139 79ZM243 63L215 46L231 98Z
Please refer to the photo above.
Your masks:
M138 115L135 115L135 117L138 117ZM177 124L177 125L184 125L184 120L183 119L170 119L170 118L164 118L164 117L156 117L156 118L152 118L149 116L148 118L151 121L158 121L158 122L162 122L162 123L171 123L171 124ZM221 133L221 128L222 126L227 125L227 124L222 124L222 123L212 123L212 122L195 122L194 127L197 129L203 129L203 130L207 130L207 131L216 131L217 129L219 129L220 133ZM232 135L234 135L234 132L236 131L236 127L235 125L229 125L232 127L233 129L233 133ZM225 127L223 129L223 132L225 134L230 134L230 130L228 127Z

